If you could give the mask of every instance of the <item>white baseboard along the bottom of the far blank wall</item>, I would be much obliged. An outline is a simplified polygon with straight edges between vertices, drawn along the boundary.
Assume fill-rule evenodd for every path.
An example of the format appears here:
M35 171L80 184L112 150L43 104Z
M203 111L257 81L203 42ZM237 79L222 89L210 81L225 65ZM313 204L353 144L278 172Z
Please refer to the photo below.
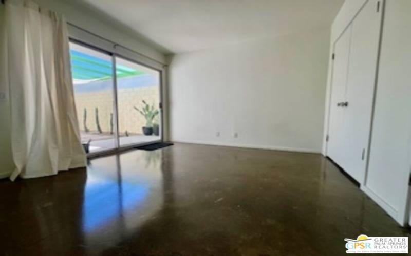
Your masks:
M321 154L321 150L312 150L311 148L300 148L300 147L283 147L283 146L268 146L268 145L255 145L255 144L240 144L240 143L237 144L237 143L201 141L201 140L190 140L190 141L171 140L171 141L176 142L176 143L191 143L191 144L212 145L212 146L245 147L245 148L256 148L260 150L278 150L278 151Z

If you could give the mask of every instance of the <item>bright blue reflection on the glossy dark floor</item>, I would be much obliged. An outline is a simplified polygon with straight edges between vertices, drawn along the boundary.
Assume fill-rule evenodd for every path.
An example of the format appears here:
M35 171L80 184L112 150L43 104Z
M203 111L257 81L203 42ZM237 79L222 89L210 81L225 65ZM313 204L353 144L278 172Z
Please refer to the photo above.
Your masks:
M88 183L83 204L83 230L92 232L141 205L148 195L144 184L115 180Z

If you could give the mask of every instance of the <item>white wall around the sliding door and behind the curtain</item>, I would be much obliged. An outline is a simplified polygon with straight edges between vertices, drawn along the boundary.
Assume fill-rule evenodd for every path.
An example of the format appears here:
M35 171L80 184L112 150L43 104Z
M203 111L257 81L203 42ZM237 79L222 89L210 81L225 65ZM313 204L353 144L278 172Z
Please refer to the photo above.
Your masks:
M113 20L106 19L97 12L81 6L73 5L69 1L37 0L37 3L45 9L57 11L65 15L68 22L92 31L102 37L118 42L119 44L142 53L156 61L165 63L165 56L157 49L141 42L133 33L125 28L113 23ZM0 28L4 24L4 5L0 4ZM73 32L70 28L70 33ZM75 32L75 31L74 31ZM3 39L4 32L0 31L0 39ZM131 54L131 53L127 53ZM4 60L4 53L0 53L0 61ZM147 59L147 61L152 61ZM6 92L4 69L5 65L0 63L0 93ZM158 63L157 63L158 65ZM164 91L166 91L164 89ZM166 101L166 99L164 99ZM9 101L0 102L0 178L7 177L13 170L11 161L11 146L9 137Z

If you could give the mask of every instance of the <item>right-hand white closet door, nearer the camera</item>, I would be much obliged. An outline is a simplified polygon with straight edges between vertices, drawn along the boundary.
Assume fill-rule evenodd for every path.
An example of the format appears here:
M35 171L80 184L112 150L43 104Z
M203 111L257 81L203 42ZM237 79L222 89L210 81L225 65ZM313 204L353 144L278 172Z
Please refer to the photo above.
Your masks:
M363 183L370 136L381 26L380 4L368 0L352 22L343 124L345 172ZM348 105L347 105L348 104Z

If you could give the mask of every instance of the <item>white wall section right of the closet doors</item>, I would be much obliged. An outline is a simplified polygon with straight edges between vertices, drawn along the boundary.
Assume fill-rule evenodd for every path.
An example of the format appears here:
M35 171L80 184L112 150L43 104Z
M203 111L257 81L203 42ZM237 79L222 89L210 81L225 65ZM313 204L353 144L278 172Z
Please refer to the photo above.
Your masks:
M364 189L400 224L411 167L411 1L386 1Z

